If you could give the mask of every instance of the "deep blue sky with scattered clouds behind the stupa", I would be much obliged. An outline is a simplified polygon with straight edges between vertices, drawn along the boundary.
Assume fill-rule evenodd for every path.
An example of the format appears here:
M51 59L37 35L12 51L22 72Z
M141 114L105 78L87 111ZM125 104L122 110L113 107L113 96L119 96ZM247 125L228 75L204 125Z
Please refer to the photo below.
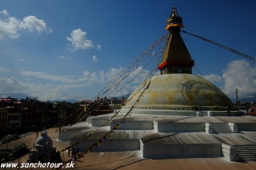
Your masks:
M26 93L39 100L94 99L112 77L166 34L173 5L183 18L183 30L256 57L253 0L0 4L0 93ZM253 61L187 34L182 38L203 77L231 98L236 88L241 99L256 96ZM133 92L149 72L150 67L116 96Z

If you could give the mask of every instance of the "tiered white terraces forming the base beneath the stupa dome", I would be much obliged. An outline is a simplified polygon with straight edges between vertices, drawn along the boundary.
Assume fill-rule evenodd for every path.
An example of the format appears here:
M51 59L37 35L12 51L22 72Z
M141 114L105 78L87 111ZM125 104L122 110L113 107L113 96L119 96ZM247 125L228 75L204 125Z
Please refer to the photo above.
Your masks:
M183 111L184 112L184 111ZM124 113L124 112L123 112ZM254 160L256 152L256 117L213 117L222 112L195 112L197 116L132 114L110 137L90 152L141 152L146 159L223 157L235 161ZM232 113L237 115L238 112ZM78 142L101 127L114 113L90 117L73 126L65 126L58 140ZM186 115L186 112L184 112ZM198 117L200 116L200 117ZM123 115L119 113L110 123L89 138L82 140L80 151L90 148L114 128Z

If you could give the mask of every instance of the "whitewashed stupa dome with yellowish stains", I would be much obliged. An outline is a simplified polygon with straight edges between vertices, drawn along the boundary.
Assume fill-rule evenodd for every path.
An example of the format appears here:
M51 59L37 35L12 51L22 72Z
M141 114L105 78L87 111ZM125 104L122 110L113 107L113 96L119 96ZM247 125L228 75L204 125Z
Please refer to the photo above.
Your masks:
M126 106L134 105L148 85L142 84L128 98ZM131 98L131 99L130 99ZM149 89L137 106L232 106L230 98L206 79L193 74L163 74L151 78Z

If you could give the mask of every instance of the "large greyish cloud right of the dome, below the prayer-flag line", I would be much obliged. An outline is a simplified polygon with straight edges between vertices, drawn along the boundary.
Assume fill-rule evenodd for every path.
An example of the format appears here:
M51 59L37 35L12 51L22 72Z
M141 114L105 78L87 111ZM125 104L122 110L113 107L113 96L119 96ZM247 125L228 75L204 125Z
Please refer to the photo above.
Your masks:
M234 96L234 89L238 89L239 97L251 97L250 95L256 94L256 67L252 67L247 61L228 63L222 78L225 81L223 92L228 96Z

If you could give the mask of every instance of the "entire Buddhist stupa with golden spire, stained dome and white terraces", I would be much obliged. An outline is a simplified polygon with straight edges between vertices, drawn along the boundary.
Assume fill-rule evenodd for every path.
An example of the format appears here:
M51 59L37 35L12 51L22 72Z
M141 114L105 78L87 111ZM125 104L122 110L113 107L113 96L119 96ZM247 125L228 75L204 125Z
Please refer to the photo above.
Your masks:
M183 27L174 6L167 19L170 37L158 65L160 75L134 90L120 112L130 112L130 116L90 152L134 151L146 159L223 157L234 161L238 155L254 159L256 117L241 115L218 87L192 74L194 60L182 40ZM86 151L122 120L123 114L118 114L110 121L114 114L65 126L58 140L69 140L72 145L95 131L78 144L80 151Z

